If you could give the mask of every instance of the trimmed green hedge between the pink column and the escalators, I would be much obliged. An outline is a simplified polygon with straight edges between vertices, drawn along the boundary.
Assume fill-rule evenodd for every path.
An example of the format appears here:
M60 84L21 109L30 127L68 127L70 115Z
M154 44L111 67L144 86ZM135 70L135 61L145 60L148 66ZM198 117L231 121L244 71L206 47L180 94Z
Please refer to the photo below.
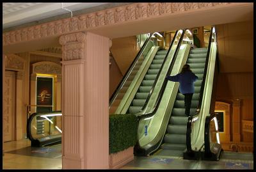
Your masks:
M138 121L134 114L109 116L109 154L120 152L137 142Z

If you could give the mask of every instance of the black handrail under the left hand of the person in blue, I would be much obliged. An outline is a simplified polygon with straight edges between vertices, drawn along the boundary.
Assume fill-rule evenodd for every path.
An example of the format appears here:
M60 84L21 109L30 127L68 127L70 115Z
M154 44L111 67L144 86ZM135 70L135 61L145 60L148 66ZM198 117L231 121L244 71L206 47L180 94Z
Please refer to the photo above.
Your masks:
M169 67L168 72L167 72L166 75L170 75L171 72L172 72L173 65L174 65L175 60L176 60L176 58L177 58L177 54L178 54L178 52L179 52L180 45L181 45L181 43L182 43L182 40L183 40L185 31L186 31L186 29L183 29L183 30L182 30L182 35L180 36L179 43L177 44L176 50L175 50L175 52L174 52L174 54L173 54L172 62L171 62L171 64L170 64L170 67ZM160 105L161 99L163 98L163 94L164 94L164 90L165 90L165 88L166 88L167 82L168 82L168 80L167 80L167 79L164 79L164 82L163 82L163 85L162 85L162 87L161 87L161 90L159 91L159 94L158 94L158 96L157 96L157 100L156 100L156 103L155 103L155 106L156 106L156 107L154 108L154 111L152 111L152 112L150 112L150 113L147 113L147 114L141 114L140 116L137 116L137 117L138 117L138 121L140 121L140 120L143 119L143 118L150 118L150 117L154 116L154 114L156 114L157 109L158 109L158 107L159 107L159 105Z

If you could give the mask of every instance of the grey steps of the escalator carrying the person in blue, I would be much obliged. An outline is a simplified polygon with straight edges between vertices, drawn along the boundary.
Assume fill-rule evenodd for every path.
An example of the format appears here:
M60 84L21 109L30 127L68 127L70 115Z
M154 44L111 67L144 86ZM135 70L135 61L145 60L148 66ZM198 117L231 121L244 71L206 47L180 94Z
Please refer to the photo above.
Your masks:
M190 114L195 114L198 106L206 56L207 47L191 49L189 52L187 64L192 72L198 76L198 80L194 83L195 93L192 97ZM187 121L188 116L185 115L184 95L177 93L163 144L161 149L154 155L183 156L183 152L186 150Z

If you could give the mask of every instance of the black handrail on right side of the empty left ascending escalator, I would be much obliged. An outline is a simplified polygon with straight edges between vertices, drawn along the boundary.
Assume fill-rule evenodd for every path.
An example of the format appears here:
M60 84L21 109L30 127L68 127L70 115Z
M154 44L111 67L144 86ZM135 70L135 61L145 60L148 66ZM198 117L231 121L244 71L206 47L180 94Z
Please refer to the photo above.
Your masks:
M173 42L174 42L174 40L175 40L177 34L178 34L178 30L175 32L175 35L173 36L172 43L171 43L171 45L170 45L170 47L169 47L169 49L168 49L168 51L167 51L167 53L166 53L166 56L164 57L163 63L162 63L162 65L161 65L161 68L159 68L159 72L158 72L158 74L157 74L157 76L156 76L156 79L155 79L155 81L154 81L154 84L152 85L152 87L151 87L151 89L150 89L150 91L149 91L149 93L148 93L148 97L147 97L147 99L146 99L146 101L145 101L145 104L144 104L144 106L141 108L140 112L141 112L141 111L144 111L144 109L147 107L148 101L150 100L150 97L151 97L151 95L152 95L152 93L153 93L153 91L154 91L154 88L155 88L156 83L157 83L157 81L158 81L158 79L159 79L159 76L160 76L160 74L161 74L161 71L163 70L164 63L165 63L167 57L169 56L169 53L170 53L170 51L171 51L171 49L172 49L172 45L173 45Z

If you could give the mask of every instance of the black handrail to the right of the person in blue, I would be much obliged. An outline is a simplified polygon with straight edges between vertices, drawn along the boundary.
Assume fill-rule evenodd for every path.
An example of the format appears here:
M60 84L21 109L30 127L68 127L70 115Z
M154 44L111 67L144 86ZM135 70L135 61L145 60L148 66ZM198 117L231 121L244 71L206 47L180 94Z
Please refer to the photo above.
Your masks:
M206 59L205 59L205 66L204 66L204 75L203 75L203 81L201 84L201 88L200 88L200 93L199 93L199 101L198 101L198 106L196 108L196 113L193 116L189 116L188 117L188 122L187 122L187 133L186 133L186 146L187 146L187 152L193 152L192 147L191 147L191 125L192 122L194 121L194 119L196 119L201 111L201 106L202 106L202 100L203 100L203 95L204 95L204 88L205 88L205 78L206 78L206 74L207 74L207 67L208 67L208 63L209 63L209 55L210 55L210 51L211 51L211 40L212 40L212 28L211 27L211 34L209 37L209 43L208 43L208 48L207 48L207 55L206 55Z

